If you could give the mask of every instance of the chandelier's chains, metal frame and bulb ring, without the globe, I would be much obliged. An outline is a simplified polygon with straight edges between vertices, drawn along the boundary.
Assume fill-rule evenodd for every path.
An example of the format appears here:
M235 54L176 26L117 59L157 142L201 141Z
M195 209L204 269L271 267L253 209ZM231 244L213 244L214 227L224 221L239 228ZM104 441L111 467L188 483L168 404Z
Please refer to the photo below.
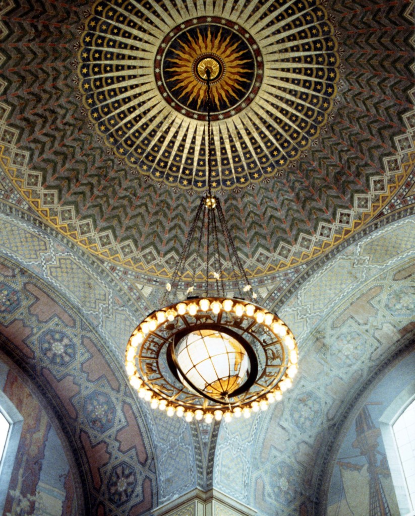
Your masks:
M207 138L211 141L211 94L212 73L220 73L203 59L205 69L199 70L206 77ZM134 330L126 348L126 370L131 385L138 395L151 402L153 408L166 410L168 415L177 414L187 421L193 417L206 422L222 417L226 421L232 415L248 417L251 411L265 410L270 402L279 400L282 392L291 387L297 372L298 351L291 330L275 314L254 303L257 295L249 284L240 257L235 248L219 199L212 195L211 145L207 156L207 191L201 198L195 218L174 269L172 285L167 285L162 308L153 312ZM205 244L202 239L205 235ZM205 248L205 291L200 297L190 297L179 303L168 304L170 296L177 293L179 280L191 247L196 256ZM228 263L238 278L238 295L225 295L223 270ZM196 266L193 267L193 293ZM240 283L245 286L241 290ZM212 285L213 284L213 288ZM212 290L215 295L212 296ZM249 300L243 299L248 297ZM212 397L201 391L181 370L175 356L175 348L189 333L212 329L231 335L249 358L247 379L222 398Z

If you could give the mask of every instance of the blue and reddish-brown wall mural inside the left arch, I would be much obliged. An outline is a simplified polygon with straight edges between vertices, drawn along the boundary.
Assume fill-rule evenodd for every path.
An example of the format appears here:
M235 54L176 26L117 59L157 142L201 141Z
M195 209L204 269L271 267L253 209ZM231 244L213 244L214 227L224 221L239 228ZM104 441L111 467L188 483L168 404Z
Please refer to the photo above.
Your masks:
M4 514L17 514L27 504L45 510L44 494L54 491L62 514L86 516L82 482L67 436L33 381L0 351L0 395L5 395L23 418L21 439L9 477ZM2 404L3 404L2 399ZM2 407L5 409L5 407ZM7 447L6 447L7 449ZM6 451L7 454L7 451ZM26 476L30 482L22 481ZM43 499L42 499L43 498ZM63 499L62 499L63 498ZM57 502L59 504L59 502ZM53 502L52 502L53 503Z

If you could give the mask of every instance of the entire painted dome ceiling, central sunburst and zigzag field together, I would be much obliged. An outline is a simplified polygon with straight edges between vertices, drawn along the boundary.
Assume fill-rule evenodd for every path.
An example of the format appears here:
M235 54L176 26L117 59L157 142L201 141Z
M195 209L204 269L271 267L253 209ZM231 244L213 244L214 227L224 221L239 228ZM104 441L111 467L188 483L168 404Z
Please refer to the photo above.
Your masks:
M206 50L220 71L215 170L248 276L298 267L376 216L413 167L411 12L365 0L23 3L3 22L2 166L83 248L170 277L192 178L205 178L188 56Z

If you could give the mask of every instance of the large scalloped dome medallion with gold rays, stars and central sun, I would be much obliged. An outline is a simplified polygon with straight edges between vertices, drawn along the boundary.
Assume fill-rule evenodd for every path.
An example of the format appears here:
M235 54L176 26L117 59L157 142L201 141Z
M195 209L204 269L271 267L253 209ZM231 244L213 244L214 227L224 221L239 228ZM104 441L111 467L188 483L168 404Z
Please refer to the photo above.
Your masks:
M213 189L281 172L326 124L338 44L316 0L93 4L79 50L91 121L132 175L204 190L206 70Z

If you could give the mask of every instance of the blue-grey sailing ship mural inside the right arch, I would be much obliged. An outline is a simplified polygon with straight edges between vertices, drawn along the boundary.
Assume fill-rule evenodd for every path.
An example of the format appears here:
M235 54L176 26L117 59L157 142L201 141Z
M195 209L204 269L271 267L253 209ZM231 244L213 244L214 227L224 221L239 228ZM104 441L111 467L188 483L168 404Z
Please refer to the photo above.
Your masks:
M413 395L415 328L401 341L402 352L393 357L395 360L391 363L373 372L371 381L366 381L366 388L361 389L345 410L340 430L333 436L330 449L326 449L318 479L318 514L331 516L344 510L346 505L354 514L368 514L372 482L378 491L375 503L380 509L390 514L400 512L379 419L395 398L401 395L405 399L406 395L410 399ZM369 462L375 466L373 471ZM359 489L351 490L352 484L359 485Z

